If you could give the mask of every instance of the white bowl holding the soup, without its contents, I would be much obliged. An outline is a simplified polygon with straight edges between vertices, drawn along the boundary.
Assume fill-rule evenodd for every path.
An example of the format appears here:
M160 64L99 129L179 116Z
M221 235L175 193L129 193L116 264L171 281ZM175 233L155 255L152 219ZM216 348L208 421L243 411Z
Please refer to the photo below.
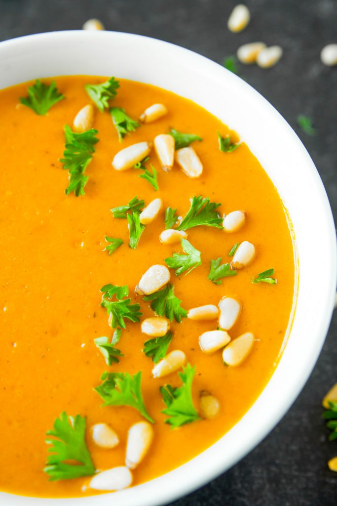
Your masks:
M207 58L160 40L108 31L42 33L0 43L0 88L65 74L115 75L148 82L218 116L262 163L296 235L300 273L293 327L273 376L245 416L213 446L166 475L115 492L113 497L109 493L61 500L63 506L158 506L233 466L277 424L303 388L333 308L336 241L331 210L316 168L291 127L245 81ZM60 504L59 499L6 493L0 493L0 502L2 506Z

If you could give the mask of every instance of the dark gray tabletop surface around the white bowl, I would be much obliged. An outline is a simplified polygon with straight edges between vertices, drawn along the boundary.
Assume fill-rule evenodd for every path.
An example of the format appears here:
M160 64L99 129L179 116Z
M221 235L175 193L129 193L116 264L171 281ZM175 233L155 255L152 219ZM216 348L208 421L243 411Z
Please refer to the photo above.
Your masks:
M97 17L109 30L168 40L219 63L249 41L279 44L284 57L277 66L269 70L240 66L240 75L297 131L336 217L337 67L324 67L319 53L325 44L337 42L337 2L251 0L246 4L252 21L242 33L232 34L226 21L235 2L228 0L0 0L0 40L78 29L86 19ZM298 129L296 117L302 113L314 118L316 137ZM321 258L317 255L313 276L329 275ZM326 467L326 461L337 454L337 444L327 442L320 418L322 396L337 381L336 332L335 312L305 389L272 434L226 474L174 506L337 506L337 475Z

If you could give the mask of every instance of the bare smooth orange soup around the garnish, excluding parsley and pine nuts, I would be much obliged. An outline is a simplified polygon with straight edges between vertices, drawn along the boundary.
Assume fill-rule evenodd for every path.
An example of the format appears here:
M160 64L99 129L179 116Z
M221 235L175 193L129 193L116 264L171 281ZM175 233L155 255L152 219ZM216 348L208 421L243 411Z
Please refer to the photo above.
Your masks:
M182 465L215 443L257 399L277 366L290 324L295 263L292 233L281 199L246 144L228 153L219 149L217 131L224 138L230 135L233 142L239 142L238 136L195 103L150 85L119 79L111 106L124 108L135 120L155 103L164 104L168 113L140 124L120 142L109 110L100 112L94 106L92 127L98 130L99 142L85 171L85 195L65 194L68 171L60 161L65 149L64 126L73 128L77 112L93 104L84 86L105 80L92 76L55 78L65 99L46 115L18 105L32 83L0 92L0 489L7 492L44 497L99 493L88 486L90 476L49 481L43 471L49 448L45 434L63 411L86 417L85 441L96 470L125 465L128 430L144 418L129 406L102 405L93 388L102 383L104 371L141 371L143 400L155 420L152 445L132 471L133 485ZM122 148L153 142L171 128L202 138L190 144L202 161L201 177L189 178L176 163L171 172L164 172L154 149L146 166L150 170L153 164L158 172L158 191L139 178L141 170L114 169L113 157ZM191 387L195 409L200 412L202 391L211 393L220 404L214 418L200 416L172 429L165 423L168 416L162 413L166 405L159 389L168 384L180 387L182 369L153 377L155 364L142 351L152 338L141 332L140 323L125 320L126 329L116 344L123 356L111 366L93 340L100 336L111 339L113 334L107 310L101 307L100 289L107 283L128 286L131 304L140 305L141 321L155 316L150 302L143 301L135 286L150 266L166 265L164 259L183 253L180 243L168 245L159 240L165 229L165 209L176 208L177 215L185 217L190 199L198 195L221 203L221 218L242 209L247 220L233 233L209 226L186 230L187 240L201 251L202 264L187 275L176 276L170 269L175 296L186 310L217 306L224 296L237 299L242 312L228 330L230 338L234 341L253 332L255 341L242 364L226 366L222 349L206 354L198 342L203 332L217 329L217 319L170 322L168 353L183 351L186 363L196 368ZM132 249L127 220L114 218L110 209L135 196L143 199L145 206L159 197L163 208ZM108 244L105 236L124 243L109 255L103 251ZM243 241L254 244L255 259L236 275L214 284L208 279L211 260L221 257L222 264L230 264L228 252ZM277 284L252 283L252 277L270 268ZM117 433L115 448L100 448L93 442L90 428L98 423L108 424Z

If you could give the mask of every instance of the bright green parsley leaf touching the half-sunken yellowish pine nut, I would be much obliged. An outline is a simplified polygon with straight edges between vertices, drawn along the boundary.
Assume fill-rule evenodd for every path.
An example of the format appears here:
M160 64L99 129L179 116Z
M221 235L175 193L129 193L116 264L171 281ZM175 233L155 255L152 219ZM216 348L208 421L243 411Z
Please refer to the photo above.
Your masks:
M170 424L172 429L200 420L198 411L193 404L191 392L195 372L196 368L187 364L186 367L183 367L182 372L179 372L183 383L181 387L172 388L171 385L167 385L160 388L160 393L167 406L162 413L169 415L165 423Z

